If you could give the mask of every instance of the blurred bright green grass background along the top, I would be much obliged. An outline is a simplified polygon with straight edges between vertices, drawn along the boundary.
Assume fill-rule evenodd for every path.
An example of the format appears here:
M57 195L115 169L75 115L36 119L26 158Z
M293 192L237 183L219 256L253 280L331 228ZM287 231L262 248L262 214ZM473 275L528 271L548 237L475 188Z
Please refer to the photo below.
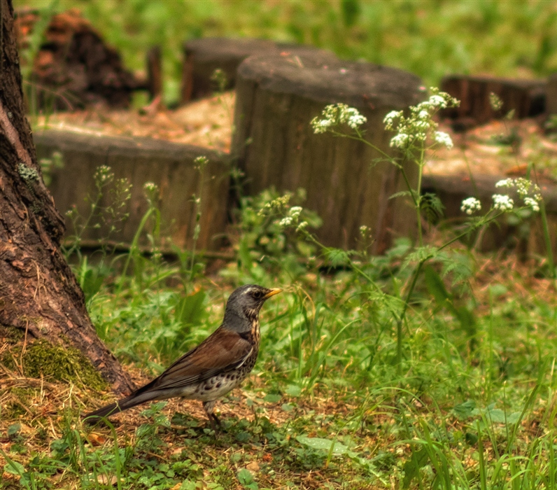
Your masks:
M14 0L45 12L52 0ZM161 45L165 99L178 98L182 44L204 36L308 43L405 69L438 85L449 73L542 77L557 70L557 2L547 0L59 0L78 8L144 69Z

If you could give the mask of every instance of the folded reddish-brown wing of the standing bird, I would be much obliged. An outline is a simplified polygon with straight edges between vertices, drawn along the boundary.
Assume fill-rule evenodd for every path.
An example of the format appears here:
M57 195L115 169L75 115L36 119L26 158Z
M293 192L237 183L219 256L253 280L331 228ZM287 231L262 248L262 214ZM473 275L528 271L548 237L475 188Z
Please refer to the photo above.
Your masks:
M209 379L217 372L242 365L252 353L253 346L237 332L218 328L195 349L176 360L159 377L139 388L136 394L150 390L181 388Z

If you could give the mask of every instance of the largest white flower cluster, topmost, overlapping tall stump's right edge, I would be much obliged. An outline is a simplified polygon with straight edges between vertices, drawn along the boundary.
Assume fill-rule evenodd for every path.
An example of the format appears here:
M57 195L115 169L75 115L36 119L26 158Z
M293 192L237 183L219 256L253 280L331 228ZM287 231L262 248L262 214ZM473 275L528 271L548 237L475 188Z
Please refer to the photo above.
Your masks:
M383 118L386 130L397 132L390 140L391 147L410 148L416 144L423 143L428 138L430 132L433 132L432 136L435 144L446 146L446 148L453 147L453 141L449 134L436 131L437 123L433 120L433 116L440 109L458 105L458 100L446 92L437 92L435 89L431 90L433 93L428 100L409 108L409 116L404 116L403 111L390 111Z

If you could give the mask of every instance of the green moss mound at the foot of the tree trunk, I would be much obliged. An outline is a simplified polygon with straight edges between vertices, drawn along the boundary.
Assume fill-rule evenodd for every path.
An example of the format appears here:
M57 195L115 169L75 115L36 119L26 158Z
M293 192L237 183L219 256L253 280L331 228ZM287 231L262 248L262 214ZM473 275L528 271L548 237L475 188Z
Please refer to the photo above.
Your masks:
M6 353L0 360L6 367L15 367L14 358L19 360L21 346ZM23 373L27 377L72 381L96 390L106 388L101 374L80 351L71 346L55 346L45 340L28 345L22 358Z

